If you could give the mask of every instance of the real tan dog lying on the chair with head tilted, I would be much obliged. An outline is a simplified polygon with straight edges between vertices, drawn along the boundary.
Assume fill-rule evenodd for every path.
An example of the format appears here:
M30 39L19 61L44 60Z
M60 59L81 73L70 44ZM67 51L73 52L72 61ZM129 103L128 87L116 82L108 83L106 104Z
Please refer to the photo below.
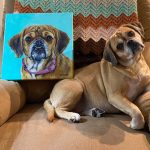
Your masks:
M107 42L102 61L78 70L73 80L55 85L44 103L49 121L54 115L78 122L78 113L100 117L104 112L122 111L132 118L131 128L143 128L144 116L134 104L143 103L137 101L139 96L150 90L150 69L142 56L143 48L140 24L121 26ZM142 108L145 110L144 105ZM146 108L149 116L150 102Z

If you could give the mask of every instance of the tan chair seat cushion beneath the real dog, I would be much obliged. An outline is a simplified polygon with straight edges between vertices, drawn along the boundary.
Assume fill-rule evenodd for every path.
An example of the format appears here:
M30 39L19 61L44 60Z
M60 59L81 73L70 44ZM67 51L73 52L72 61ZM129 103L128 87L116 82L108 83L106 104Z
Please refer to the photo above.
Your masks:
M129 121L120 114L49 123L42 104L30 104L0 127L0 150L149 150L149 133L126 127Z

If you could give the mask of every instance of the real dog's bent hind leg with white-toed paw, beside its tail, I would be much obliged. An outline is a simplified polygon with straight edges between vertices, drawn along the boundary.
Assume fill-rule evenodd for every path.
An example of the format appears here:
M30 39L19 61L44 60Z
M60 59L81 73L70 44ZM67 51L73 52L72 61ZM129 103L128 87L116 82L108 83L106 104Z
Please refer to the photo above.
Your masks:
M53 114L49 114L52 113L49 111L52 106L57 117L73 122L79 122L80 115L69 111L75 107L76 103L80 100L82 93L83 86L77 80L65 79L58 82L50 95L50 102L45 102L44 108L46 108L48 116L53 116Z

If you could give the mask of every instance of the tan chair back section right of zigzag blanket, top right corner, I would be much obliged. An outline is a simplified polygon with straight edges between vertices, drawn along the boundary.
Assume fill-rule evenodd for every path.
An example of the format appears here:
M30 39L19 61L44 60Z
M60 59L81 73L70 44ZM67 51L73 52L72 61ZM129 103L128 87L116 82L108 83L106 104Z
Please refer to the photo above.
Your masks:
M138 16L145 30L145 41L150 41L150 0L137 0Z

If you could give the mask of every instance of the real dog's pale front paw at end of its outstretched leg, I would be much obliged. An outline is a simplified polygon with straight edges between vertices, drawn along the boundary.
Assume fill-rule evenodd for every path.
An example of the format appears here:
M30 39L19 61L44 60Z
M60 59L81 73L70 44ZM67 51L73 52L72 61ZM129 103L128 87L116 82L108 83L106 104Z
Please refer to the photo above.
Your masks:
M132 118L130 122L130 127L135 130L143 129L144 125L145 125L144 117L140 114Z

